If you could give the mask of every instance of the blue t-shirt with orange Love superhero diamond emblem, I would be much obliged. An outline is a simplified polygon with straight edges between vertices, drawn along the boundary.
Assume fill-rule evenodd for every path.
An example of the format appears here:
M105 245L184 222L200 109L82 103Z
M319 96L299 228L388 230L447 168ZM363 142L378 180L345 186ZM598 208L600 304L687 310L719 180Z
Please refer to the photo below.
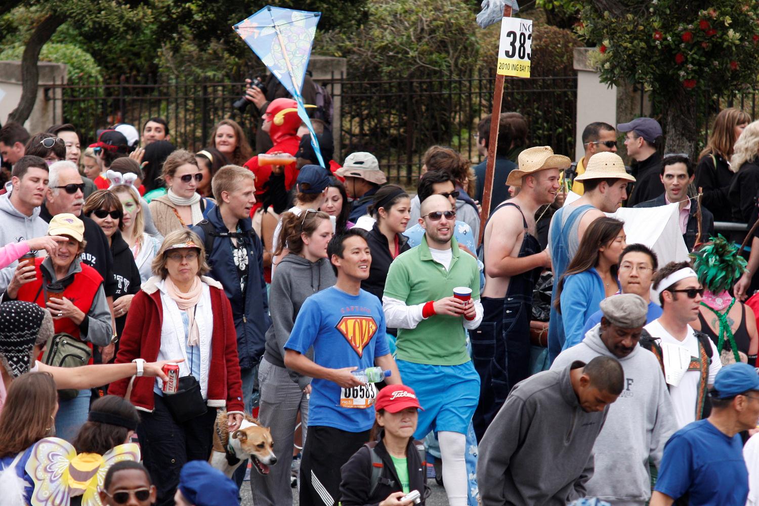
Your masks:
M313 361L329 369L374 366L375 357L390 353L385 314L374 295L361 290L347 294L330 287L308 297L285 343L285 349L305 354L313 346ZM326 379L311 382L308 425L363 432L374 424L374 407L340 407L342 388Z

